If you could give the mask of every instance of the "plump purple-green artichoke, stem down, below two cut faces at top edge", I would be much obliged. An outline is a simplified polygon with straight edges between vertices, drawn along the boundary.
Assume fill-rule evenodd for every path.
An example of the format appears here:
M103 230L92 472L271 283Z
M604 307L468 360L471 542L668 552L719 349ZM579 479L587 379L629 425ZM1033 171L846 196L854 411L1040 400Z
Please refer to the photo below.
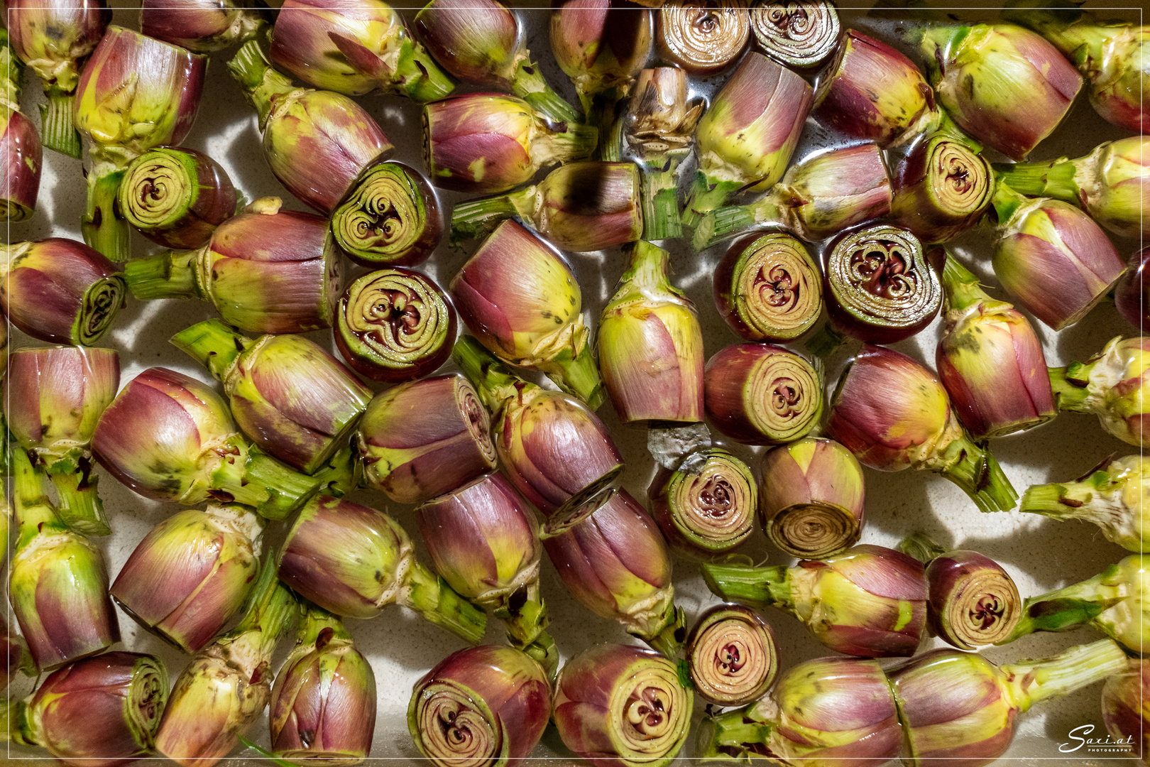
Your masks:
M811 98L802 77L761 53L746 54L699 120L699 167L683 224L696 227L736 191L762 192L782 178Z

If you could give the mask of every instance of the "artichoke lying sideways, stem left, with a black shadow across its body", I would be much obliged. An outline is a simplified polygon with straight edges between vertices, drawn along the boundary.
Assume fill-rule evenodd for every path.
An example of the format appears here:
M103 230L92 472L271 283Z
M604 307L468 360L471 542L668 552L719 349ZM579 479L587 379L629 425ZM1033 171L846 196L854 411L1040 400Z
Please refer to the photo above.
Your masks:
M482 200L457 202L454 239L486 237L505 218L531 225L565 251L601 251L643 235L639 171L634 162L570 162L538 184Z

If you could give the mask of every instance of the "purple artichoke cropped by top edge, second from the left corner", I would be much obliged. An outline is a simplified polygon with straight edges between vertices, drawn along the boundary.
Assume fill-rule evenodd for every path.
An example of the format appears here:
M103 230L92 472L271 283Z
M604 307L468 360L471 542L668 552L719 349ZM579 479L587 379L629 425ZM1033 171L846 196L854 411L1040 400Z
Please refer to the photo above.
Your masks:
M263 0L144 0L140 31L195 53L213 53L264 31Z

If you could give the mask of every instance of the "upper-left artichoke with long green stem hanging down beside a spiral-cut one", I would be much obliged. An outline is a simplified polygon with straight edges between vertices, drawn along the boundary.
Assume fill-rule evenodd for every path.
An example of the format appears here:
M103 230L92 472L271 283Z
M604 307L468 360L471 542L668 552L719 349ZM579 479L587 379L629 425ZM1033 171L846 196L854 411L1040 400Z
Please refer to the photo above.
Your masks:
M128 222L118 209L128 163L181 144L200 108L207 56L109 26L84 66L72 110L91 141L84 241L113 261L128 259Z

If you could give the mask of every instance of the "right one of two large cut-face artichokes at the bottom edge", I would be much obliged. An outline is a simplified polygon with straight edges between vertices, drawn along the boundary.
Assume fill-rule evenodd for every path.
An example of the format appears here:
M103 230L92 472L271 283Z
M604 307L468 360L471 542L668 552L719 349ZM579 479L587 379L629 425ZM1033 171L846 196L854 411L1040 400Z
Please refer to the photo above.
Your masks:
M595 767L664 767L687 742L693 696L650 650L600 644L575 655L555 682L555 728Z

